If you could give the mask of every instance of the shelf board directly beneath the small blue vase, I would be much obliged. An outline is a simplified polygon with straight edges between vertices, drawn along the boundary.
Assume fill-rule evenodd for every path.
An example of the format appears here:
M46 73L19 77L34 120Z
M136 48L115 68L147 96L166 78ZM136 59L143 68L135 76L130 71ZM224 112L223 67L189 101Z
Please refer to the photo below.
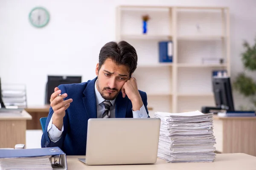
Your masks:
M170 40L171 35L154 35L154 34L122 34L121 38L133 40Z

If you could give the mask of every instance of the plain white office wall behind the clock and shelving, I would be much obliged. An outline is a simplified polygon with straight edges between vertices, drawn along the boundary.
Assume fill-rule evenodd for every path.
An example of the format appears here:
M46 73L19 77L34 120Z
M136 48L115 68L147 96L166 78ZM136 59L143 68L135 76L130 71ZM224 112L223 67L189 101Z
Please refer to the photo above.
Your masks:
M115 7L128 4L229 7L231 79L243 70L242 41L252 43L256 37L255 0L0 0L2 82L25 83L28 105L33 106L44 105L48 74L93 79L100 48L115 40ZM29 23L35 6L44 6L50 13L45 28ZM256 79L256 74L252 76ZM238 107L244 100L234 94Z

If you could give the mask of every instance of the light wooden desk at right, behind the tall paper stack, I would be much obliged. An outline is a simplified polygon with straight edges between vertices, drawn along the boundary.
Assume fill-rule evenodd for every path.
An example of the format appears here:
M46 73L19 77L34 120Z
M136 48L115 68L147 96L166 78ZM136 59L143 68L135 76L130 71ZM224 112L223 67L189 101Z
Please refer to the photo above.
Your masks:
M216 150L256 156L256 117L213 117Z

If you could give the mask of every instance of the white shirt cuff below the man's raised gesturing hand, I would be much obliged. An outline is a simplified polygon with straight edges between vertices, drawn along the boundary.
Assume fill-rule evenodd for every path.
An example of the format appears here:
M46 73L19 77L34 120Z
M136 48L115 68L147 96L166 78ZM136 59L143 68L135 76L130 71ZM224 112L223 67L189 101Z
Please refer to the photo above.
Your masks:
M61 139L61 134L63 130L64 130L64 126L62 125L61 130L58 130L58 128L52 124L52 118L51 118L49 125L47 127L47 132L52 142L58 142L58 140Z

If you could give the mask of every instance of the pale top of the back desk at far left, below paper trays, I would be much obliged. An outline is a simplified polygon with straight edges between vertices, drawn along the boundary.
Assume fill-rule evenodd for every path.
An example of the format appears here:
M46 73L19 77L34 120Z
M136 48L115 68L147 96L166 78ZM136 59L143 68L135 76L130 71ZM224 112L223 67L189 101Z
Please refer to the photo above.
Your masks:
M31 120L32 116L26 111L22 113L0 113L0 120Z

